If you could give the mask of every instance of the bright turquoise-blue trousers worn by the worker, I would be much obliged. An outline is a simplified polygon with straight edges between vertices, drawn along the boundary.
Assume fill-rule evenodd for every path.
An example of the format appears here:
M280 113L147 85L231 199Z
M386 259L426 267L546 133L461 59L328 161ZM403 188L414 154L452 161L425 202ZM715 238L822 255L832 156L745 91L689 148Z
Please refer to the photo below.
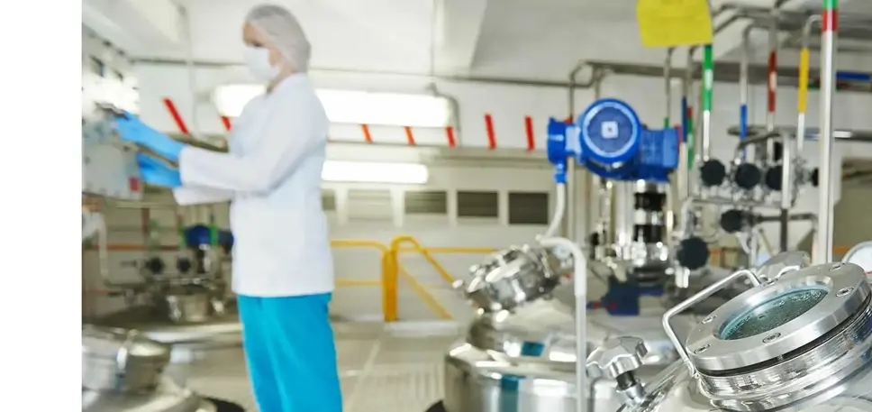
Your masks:
M239 296L242 341L260 412L341 412L330 293Z

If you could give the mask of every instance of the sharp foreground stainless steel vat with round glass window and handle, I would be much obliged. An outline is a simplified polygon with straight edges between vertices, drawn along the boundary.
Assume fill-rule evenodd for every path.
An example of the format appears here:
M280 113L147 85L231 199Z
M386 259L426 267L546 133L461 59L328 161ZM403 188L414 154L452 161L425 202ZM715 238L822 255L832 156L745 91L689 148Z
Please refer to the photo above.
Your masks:
M588 371L617 382L622 412L872 410L867 276L852 263L808 266L800 253L773 258L784 270L769 270L773 261L758 272L740 270L670 309L664 321L733 280L755 284L705 316L685 340L670 336L681 361L644 387L647 372L636 378L639 357L626 345L592 353Z

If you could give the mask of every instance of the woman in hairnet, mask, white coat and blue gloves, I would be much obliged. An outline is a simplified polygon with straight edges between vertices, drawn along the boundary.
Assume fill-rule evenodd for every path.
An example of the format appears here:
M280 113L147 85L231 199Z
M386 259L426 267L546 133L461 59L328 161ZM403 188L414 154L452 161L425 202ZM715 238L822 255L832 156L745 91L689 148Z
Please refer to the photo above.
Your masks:
M181 205L232 200L233 291L262 412L339 412L340 382L328 317L333 268L321 205L328 121L306 76L310 47L295 17L259 5L246 17L245 61L267 85L235 121L230 153L186 146L133 116L124 140L178 161L140 156L147 183L174 188Z

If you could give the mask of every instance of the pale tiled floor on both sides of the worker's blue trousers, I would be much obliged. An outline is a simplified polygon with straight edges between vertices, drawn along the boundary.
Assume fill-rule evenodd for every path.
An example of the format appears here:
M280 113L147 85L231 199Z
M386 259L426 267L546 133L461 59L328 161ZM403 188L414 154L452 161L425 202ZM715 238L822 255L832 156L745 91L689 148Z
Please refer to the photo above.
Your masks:
M344 412L423 412L441 398L442 359L458 334L385 330L382 324L333 325ZM256 412L240 348L205 352L169 371L206 396Z

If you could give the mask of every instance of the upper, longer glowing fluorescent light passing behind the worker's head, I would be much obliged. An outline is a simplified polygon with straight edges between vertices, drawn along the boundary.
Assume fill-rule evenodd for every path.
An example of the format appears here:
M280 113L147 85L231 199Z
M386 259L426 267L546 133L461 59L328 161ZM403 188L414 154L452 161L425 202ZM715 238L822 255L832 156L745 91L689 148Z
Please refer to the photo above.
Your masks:
M215 89L213 100L219 114L236 117L263 90L257 85L227 85ZM441 96L335 89L316 93L332 123L445 127L451 121L450 101Z

